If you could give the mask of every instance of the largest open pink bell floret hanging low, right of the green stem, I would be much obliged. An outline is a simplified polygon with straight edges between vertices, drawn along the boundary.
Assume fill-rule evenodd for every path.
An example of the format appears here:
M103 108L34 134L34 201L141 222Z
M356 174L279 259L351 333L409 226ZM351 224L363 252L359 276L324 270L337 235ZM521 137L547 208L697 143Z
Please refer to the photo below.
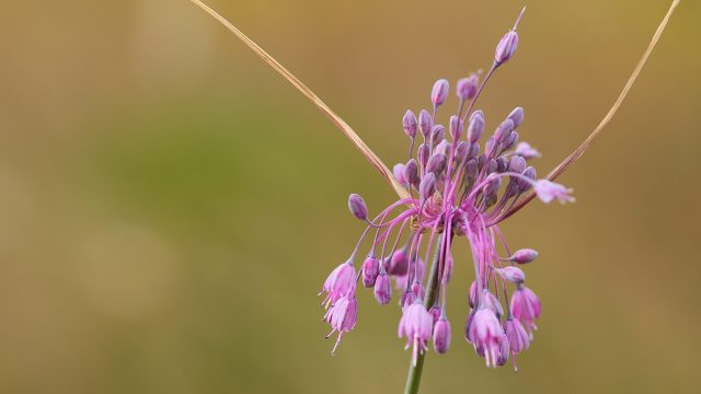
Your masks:
M490 308L480 308L472 317L469 337L478 355L483 356L487 367L496 367L502 354L504 329Z

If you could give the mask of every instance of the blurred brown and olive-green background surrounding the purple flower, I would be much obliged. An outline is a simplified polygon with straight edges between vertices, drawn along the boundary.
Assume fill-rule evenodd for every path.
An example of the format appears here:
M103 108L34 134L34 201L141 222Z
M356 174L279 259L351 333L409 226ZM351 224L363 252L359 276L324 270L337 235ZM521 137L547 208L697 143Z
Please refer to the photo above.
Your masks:
M486 68L522 2L211 0L388 164L437 78ZM481 106L526 108L548 172L608 111L669 1L526 2ZM572 206L505 224L543 301L520 369L461 336L423 393L698 390L701 4L682 1ZM185 0L0 4L0 392L397 393L399 309L360 292L335 357L315 297L391 189L321 113ZM460 240L457 245L461 245Z

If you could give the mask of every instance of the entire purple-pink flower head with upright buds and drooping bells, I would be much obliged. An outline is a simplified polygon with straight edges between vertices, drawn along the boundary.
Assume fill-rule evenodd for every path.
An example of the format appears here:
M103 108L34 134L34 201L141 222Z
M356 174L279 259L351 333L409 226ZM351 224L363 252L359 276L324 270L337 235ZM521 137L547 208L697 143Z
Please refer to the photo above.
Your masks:
M407 348L413 347L414 360L432 339L437 352L446 352L451 332L446 286L453 269L451 245L459 236L468 241L475 274L469 287L466 339L489 367L503 366L509 358L516 367L515 356L528 349L540 316L540 301L525 286L526 275L518 266L533 262L538 253L528 248L512 253L499 223L531 189L544 202L574 199L572 190L538 179L536 170L528 165L528 160L540 154L527 142L519 142L522 108L512 111L483 144L480 142L486 120L473 106L493 72L514 56L517 25L518 21L499 42L483 81L476 73L458 81L459 104L447 127L437 120L449 94L449 83L444 79L433 88L429 111L423 109L418 116L407 111L404 115L410 159L397 164L393 173L410 197L399 199L370 220L363 198L350 195L350 212L367 228L348 260L336 267L323 286L322 304L327 309L324 321L332 327L329 335L337 333L334 350L356 324L356 283L361 280L364 287L374 289L378 303L388 304L393 278L401 294L399 336L406 338ZM356 255L372 233L367 257L356 271ZM433 265L427 276L430 256ZM509 285L515 287L510 294Z

